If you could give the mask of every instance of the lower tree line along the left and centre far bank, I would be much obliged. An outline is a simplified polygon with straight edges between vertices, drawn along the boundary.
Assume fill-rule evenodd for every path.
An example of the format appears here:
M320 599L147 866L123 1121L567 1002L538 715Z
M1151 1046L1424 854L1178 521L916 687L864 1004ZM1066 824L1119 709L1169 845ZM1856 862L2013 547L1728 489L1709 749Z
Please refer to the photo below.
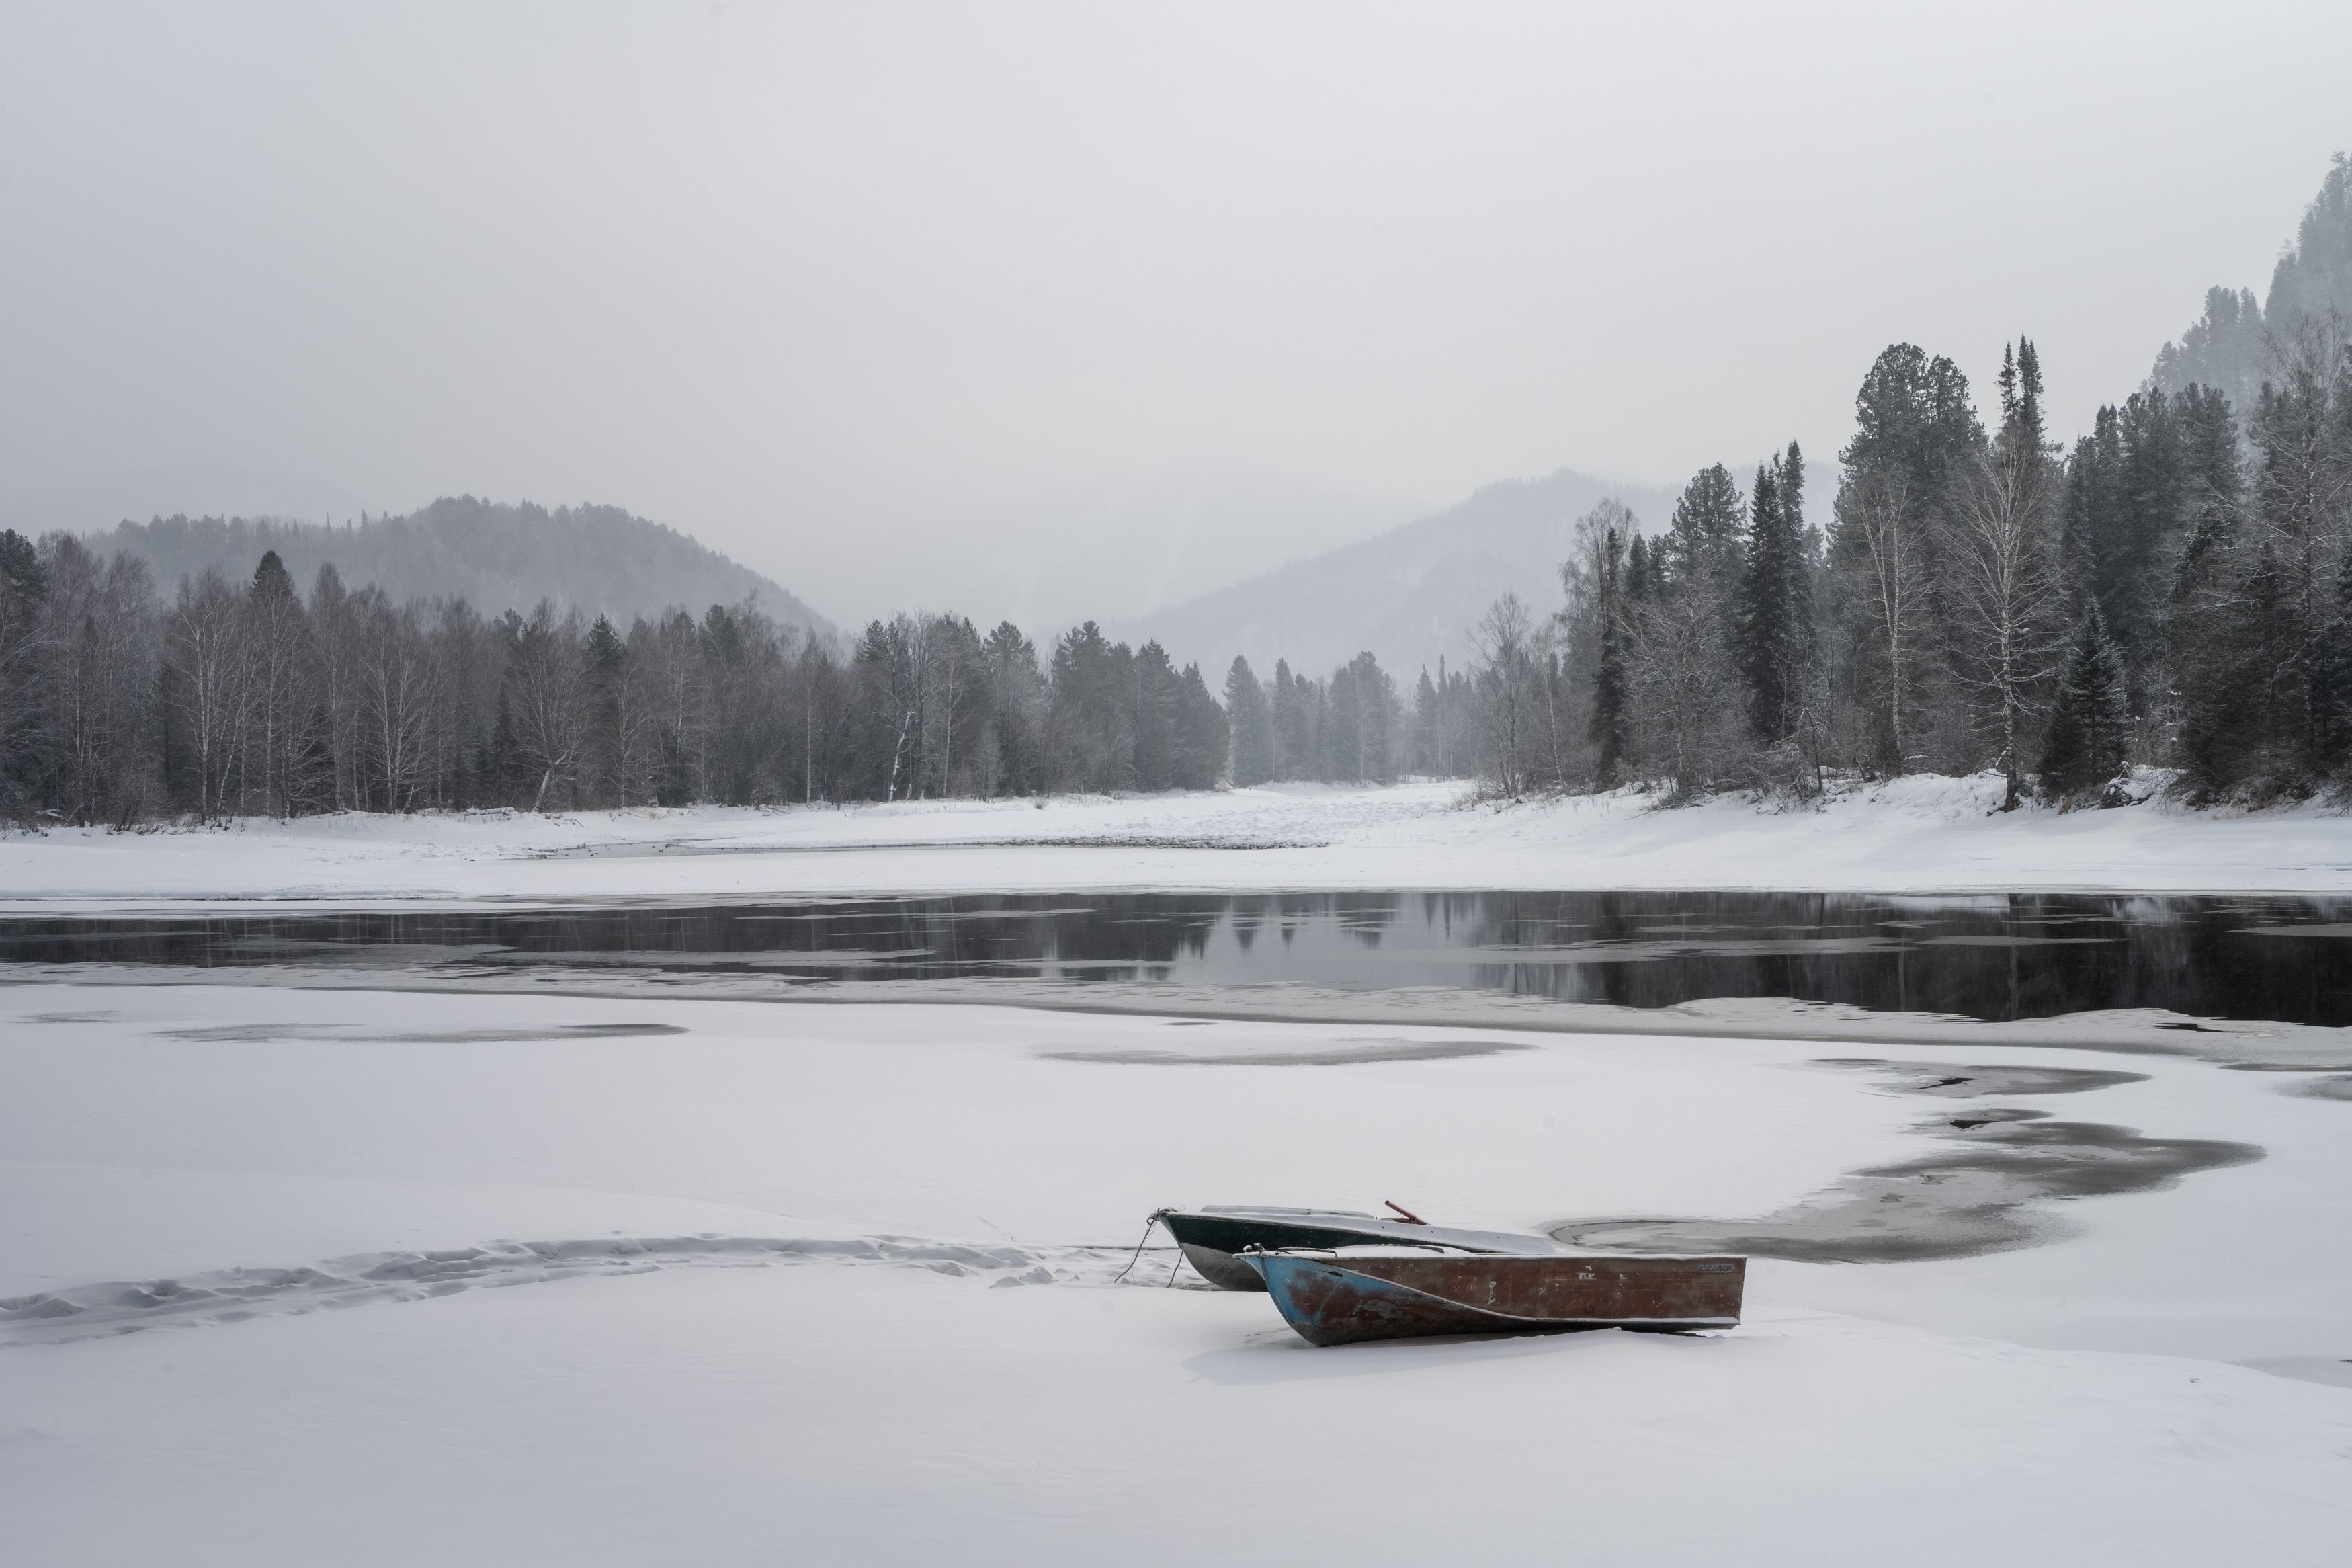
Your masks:
M393 602L278 552L165 599L132 552L0 534L0 816L129 825L313 811L894 802L1371 780L1465 769L1465 682L1406 715L1364 654L1329 679L1247 661L1225 703L1096 623L877 618L840 642L757 602L583 618ZM1240 715L1228 722L1228 708Z

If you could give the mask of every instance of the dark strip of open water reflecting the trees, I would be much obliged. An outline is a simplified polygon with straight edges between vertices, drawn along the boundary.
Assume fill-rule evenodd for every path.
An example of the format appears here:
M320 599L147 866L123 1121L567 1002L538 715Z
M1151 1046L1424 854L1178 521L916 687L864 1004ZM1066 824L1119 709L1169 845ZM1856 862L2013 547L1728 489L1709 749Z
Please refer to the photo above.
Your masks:
M2044 1018L2159 1006L2352 1025L2352 898L2086 893L1042 893L0 919L38 964L614 966L1463 985L1670 1006L1799 997Z

